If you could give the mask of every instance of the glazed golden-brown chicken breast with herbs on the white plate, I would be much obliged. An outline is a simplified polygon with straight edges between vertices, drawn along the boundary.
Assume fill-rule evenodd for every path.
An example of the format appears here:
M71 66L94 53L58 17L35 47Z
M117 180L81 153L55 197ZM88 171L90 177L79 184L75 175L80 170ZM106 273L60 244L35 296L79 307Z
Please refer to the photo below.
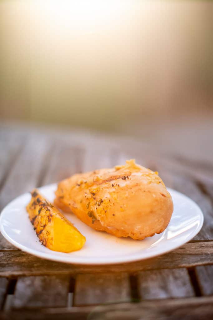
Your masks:
M171 195L158 172L134 160L61 181L55 205L95 230L138 240L163 232L173 212Z

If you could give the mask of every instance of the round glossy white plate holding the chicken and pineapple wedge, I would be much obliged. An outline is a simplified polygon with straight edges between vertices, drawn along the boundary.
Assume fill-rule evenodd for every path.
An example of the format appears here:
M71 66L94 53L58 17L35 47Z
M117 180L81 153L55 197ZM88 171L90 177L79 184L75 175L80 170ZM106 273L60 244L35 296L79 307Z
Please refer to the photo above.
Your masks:
M54 199L57 185L40 188L49 201ZM191 240L202 228L203 214L197 204L187 196L168 189L171 193L174 212L168 227L160 235L133 240L117 238L106 232L98 232L81 222L74 214L65 214L80 230L87 241L75 252L55 252L44 247L33 230L25 209L31 195L25 193L11 201L0 216L0 231L17 248L37 257L80 264L112 264L147 259L173 250Z

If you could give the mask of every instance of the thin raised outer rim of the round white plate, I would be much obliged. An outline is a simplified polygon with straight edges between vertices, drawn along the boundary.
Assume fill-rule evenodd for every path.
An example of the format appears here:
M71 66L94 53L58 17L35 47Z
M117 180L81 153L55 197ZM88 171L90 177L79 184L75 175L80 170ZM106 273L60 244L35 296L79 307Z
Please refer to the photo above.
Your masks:
M42 188L54 188L57 186L57 183L51 183L51 184L48 184L48 185L44 185L42 187L39 187L37 189L41 190ZM4 215L4 212L7 211L7 208L11 205L12 202L15 202L16 200L19 199L19 197L22 197L24 195L27 195L29 194L29 192L25 192L19 196L17 196L16 198L14 198L13 200L11 200L1 211L0 213L0 232L1 234L4 236L4 238L9 241L12 245L14 245L16 248L18 248L19 250L23 251L23 252L27 252L29 254L32 254L38 258L42 258L42 259L46 259L46 260L51 260L51 261L57 261L57 262L61 262L61 263L68 263L68 264L76 264L76 265L90 265L90 266L95 266L95 265L114 265L114 264L121 264L121 263L131 263L131 262L135 262L135 261L142 261L142 260L147 260L147 259L150 259L150 258L154 258L156 256L160 256L160 255L163 255L165 253L168 253L168 252L171 252L172 250L175 250L177 248L179 248L180 246L182 246L183 244L187 243L188 241L190 241L192 238L194 238L194 236L196 236L202 226L203 226L203 221L204 221L204 215L203 215L203 212L201 210L201 208L199 207L199 205L194 202L194 200L192 200L190 197L186 196L185 194L175 190L175 189L172 189L172 188L167 188L167 190L170 192L170 190L174 191L175 193L179 194L180 196L183 196L185 198L187 198L188 200L190 200L191 202L193 202L193 204L197 207L198 209L198 212L199 212L199 216L200 216L200 220L199 220L199 225L197 226L197 228L194 230L194 232L192 232L192 234L189 236L189 239L186 240L182 240L178 243L178 245L173 245L171 248L168 248L168 249L165 249L163 252L149 252L149 254L147 254L147 256L143 256L141 257L140 255L136 257L134 257L134 255L130 257L119 257L119 258L113 258L113 261L107 261L107 260L103 260L103 261L93 261L92 263L90 261L88 261L88 257L85 259L85 258L81 258L81 257L72 257L72 256L57 256L57 255L53 255L51 252L50 253L46 253L46 252L39 252L38 250L35 250L35 249L30 249L20 243L18 243L16 240L13 240L8 234L7 232L4 230L4 226L3 226L3 223L2 223L2 220L3 220L3 215ZM166 229L165 229L166 230ZM51 251L51 250L50 250ZM55 251L53 251L55 252ZM74 259L73 259L74 258ZM77 259L77 261L75 261L75 259ZM82 261L80 261L82 259ZM85 259L85 260L84 260ZM103 259L106 259L106 258L103 258Z

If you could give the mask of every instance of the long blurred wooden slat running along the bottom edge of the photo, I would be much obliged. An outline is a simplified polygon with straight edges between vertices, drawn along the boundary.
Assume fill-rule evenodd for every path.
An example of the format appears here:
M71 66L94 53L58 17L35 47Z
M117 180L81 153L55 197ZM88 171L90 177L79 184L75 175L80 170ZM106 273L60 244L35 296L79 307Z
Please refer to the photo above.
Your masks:
M193 297L118 303L72 308L15 309L0 313L4 320L78 319L78 320L200 320L213 316L213 297Z

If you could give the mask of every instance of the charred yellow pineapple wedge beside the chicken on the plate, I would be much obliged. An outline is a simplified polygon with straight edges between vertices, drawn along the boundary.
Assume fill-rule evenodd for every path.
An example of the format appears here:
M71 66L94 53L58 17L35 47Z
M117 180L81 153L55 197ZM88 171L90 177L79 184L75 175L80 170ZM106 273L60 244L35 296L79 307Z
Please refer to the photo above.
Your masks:
M86 238L38 190L26 209L41 243L53 251L72 252L83 247Z

